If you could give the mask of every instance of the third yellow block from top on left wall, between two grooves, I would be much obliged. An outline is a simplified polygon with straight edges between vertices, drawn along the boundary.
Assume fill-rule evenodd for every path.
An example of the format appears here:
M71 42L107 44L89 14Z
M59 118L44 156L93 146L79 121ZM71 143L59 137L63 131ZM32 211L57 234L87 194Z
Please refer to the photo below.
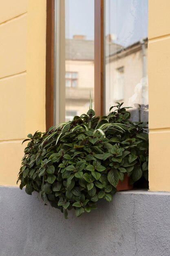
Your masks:
M26 73L0 79L0 141L25 137Z

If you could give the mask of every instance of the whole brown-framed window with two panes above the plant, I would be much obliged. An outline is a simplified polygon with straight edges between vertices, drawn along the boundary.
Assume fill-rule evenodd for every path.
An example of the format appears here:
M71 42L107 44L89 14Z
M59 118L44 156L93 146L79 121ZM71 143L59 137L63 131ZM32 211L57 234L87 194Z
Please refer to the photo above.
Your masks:
M47 1L47 127L85 113L90 92L96 115L124 101L148 121L147 28L148 0Z

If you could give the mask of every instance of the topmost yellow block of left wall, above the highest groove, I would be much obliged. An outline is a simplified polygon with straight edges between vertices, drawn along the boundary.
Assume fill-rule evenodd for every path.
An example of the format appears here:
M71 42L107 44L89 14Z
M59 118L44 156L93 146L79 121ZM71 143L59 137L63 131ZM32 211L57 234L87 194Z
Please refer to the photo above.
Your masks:
M10 20L27 11L26 0L1 0L0 23Z

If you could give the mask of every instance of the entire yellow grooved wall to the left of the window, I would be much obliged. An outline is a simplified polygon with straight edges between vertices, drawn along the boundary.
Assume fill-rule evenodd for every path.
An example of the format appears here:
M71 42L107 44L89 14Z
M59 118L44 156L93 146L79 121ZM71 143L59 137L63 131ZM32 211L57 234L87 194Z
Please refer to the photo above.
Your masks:
M46 0L1 1L0 185L16 186L22 140L45 130L45 54Z

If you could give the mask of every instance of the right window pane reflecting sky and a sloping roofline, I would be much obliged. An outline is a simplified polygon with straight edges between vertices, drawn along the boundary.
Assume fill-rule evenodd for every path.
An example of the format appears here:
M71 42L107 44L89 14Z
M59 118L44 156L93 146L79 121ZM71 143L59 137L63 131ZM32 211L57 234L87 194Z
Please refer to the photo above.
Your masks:
M148 121L148 0L106 0L105 36L105 112L124 102Z

